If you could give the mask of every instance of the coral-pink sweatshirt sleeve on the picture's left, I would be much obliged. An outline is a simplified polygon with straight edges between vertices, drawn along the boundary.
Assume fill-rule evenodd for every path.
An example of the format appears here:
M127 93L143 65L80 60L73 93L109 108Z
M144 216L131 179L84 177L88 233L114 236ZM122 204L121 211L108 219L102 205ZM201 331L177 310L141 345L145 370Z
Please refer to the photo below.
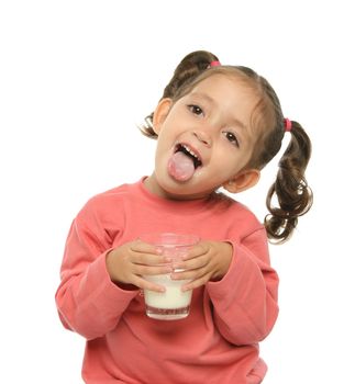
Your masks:
M106 267L116 230L106 230L92 211L84 208L71 224L62 263L56 305L62 323L87 339L115 328L138 291L111 282Z

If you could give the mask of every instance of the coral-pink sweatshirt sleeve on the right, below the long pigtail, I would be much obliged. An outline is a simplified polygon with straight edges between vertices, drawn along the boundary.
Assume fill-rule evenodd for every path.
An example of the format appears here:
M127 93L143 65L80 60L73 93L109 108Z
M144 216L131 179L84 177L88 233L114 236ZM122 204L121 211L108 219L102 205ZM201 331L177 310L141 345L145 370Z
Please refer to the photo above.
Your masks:
M256 343L270 332L278 315L278 276L269 264L264 227L232 246L230 270L221 281L207 284L214 321L230 342Z

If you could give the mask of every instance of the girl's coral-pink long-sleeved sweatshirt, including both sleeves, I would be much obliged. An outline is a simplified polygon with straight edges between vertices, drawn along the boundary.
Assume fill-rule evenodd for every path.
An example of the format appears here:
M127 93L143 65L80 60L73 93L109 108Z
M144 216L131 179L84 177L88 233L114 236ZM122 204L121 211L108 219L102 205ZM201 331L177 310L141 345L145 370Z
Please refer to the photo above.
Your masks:
M157 231L233 245L226 275L193 290L185 319L148 318L140 291L106 269L109 250ZM74 219L56 303L64 326L87 339L86 383L254 384L266 372L258 341L275 324L277 286L265 228L245 206L223 195L167 201L140 181L92 197Z

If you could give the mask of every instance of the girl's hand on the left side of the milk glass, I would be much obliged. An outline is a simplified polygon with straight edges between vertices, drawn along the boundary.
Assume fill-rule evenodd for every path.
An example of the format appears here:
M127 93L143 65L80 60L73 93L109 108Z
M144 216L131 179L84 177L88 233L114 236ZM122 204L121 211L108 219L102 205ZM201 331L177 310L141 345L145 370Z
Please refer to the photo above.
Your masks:
M127 290L130 284L133 284L136 287L156 292L165 292L165 287L146 281L143 275L173 271L171 266L166 264L160 250L140 240L126 242L110 251L107 256L107 269L111 280L121 287ZM123 284L129 285L123 286Z

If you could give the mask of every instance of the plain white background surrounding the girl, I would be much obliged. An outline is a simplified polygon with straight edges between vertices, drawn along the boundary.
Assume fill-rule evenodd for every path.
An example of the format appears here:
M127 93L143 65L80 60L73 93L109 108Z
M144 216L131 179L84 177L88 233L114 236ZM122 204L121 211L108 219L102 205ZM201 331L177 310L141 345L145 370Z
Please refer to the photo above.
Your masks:
M280 316L264 383L343 381L341 15L331 0L0 2L1 382L81 382L84 340L54 302L69 225L93 194L152 172L136 124L196 49L267 77L313 142L313 208L271 246ZM262 219L276 161L237 196Z

